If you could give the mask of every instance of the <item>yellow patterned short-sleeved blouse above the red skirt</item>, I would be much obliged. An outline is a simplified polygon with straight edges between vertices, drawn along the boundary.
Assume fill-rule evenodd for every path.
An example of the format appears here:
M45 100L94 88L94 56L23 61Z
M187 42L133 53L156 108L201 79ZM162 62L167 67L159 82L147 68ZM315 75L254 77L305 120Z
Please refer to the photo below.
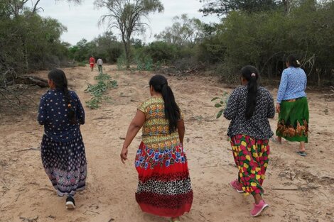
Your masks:
M162 97L152 96L142 102L138 109L145 114L142 140L147 148L170 149L180 144L178 131L169 133L169 122L165 116L165 105ZM183 119L182 113L181 119Z

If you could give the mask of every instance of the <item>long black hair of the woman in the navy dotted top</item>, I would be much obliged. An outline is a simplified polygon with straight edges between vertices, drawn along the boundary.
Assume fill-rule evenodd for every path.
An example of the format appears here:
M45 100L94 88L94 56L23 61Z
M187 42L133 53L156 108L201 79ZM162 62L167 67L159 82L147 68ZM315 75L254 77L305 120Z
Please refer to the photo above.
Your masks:
M65 102L68 105L68 118L72 124L77 124L77 117L73 109L74 101L72 101L70 93L68 92L68 79L66 79L65 72L63 72L63 70L53 69L48 73L48 79L53 81L56 89L63 91Z

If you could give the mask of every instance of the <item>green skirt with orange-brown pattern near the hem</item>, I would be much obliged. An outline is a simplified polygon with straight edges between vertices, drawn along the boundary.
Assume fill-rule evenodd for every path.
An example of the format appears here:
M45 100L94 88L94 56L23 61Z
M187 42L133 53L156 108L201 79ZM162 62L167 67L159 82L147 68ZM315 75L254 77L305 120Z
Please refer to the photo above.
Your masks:
M276 135L289 141L308 143L308 116L306 97L282 101Z

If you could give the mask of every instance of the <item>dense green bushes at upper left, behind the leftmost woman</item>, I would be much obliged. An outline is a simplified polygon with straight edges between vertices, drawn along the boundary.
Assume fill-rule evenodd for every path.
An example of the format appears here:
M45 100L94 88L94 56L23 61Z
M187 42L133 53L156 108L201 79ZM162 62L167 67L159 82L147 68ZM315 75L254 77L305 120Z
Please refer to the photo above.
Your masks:
M0 2L1 85L17 74L67 63L68 43L60 42L65 26L18 2Z

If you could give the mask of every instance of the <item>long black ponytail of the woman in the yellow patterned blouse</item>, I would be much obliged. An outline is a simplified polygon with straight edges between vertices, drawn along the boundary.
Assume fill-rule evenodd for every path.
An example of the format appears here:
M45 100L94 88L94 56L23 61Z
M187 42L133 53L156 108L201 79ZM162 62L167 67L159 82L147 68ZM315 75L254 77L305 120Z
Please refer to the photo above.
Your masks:
M181 118L181 112L178 104L176 104L173 91L168 86L167 79L161 74L156 74L151 78L149 85L153 87L154 91L162 94L165 103L165 116L169 121L169 133L175 132L178 127L178 120Z

